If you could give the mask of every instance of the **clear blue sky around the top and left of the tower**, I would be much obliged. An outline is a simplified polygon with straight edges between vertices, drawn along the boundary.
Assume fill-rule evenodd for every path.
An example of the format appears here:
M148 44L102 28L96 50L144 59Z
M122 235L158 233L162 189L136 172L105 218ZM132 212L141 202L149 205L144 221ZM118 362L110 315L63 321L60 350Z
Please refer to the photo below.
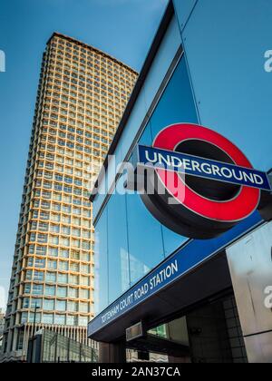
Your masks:
M168 0L0 0L0 308L5 307L25 161L45 44L53 32L92 44L137 71Z

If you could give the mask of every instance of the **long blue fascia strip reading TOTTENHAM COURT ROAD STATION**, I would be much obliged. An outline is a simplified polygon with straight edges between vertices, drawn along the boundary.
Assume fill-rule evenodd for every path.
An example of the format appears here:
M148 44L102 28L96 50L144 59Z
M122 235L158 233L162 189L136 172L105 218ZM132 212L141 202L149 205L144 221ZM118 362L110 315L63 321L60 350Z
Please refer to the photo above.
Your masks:
M88 324L88 337L92 337L102 328L111 325L118 318L141 305L148 298L158 294L163 288L170 286L190 269L196 268L204 260L226 247L229 241L244 234L248 229L252 229L252 226L257 225L259 221L260 217L256 213L219 239L212 239L212 241L193 239L188 241L169 259L165 259L156 269L151 270L137 284L115 300L112 305L93 318Z

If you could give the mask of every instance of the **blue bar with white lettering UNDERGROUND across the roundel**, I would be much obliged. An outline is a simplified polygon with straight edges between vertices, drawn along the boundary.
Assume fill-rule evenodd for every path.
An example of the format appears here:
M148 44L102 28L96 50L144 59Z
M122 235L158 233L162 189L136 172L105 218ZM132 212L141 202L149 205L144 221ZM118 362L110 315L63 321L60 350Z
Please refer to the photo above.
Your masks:
M138 164L156 169L176 171L209 180L248 186L259 190L271 190L266 172L222 161L204 159L177 151L167 151L139 145Z

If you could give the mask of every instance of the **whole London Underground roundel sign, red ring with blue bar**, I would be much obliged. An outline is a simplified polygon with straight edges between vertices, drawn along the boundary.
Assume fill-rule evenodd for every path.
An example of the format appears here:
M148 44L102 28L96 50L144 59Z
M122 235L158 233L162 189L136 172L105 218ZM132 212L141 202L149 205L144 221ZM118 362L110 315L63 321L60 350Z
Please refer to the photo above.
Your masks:
M189 238L219 236L255 210L267 174L253 169L236 145L218 132L189 123L166 127L139 162L154 165L141 196L161 223ZM152 187L149 187L152 185ZM163 191L161 191L161 189Z

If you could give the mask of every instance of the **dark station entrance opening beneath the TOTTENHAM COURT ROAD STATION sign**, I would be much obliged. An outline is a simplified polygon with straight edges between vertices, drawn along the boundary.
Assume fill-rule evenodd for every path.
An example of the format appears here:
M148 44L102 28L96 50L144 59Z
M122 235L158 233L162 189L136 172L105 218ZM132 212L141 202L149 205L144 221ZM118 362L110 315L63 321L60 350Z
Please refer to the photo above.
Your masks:
M151 329L147 346L154 336L168 340L170 347L182 347L183 354L176 354L180 363L248 363L238 308L231 294Z

